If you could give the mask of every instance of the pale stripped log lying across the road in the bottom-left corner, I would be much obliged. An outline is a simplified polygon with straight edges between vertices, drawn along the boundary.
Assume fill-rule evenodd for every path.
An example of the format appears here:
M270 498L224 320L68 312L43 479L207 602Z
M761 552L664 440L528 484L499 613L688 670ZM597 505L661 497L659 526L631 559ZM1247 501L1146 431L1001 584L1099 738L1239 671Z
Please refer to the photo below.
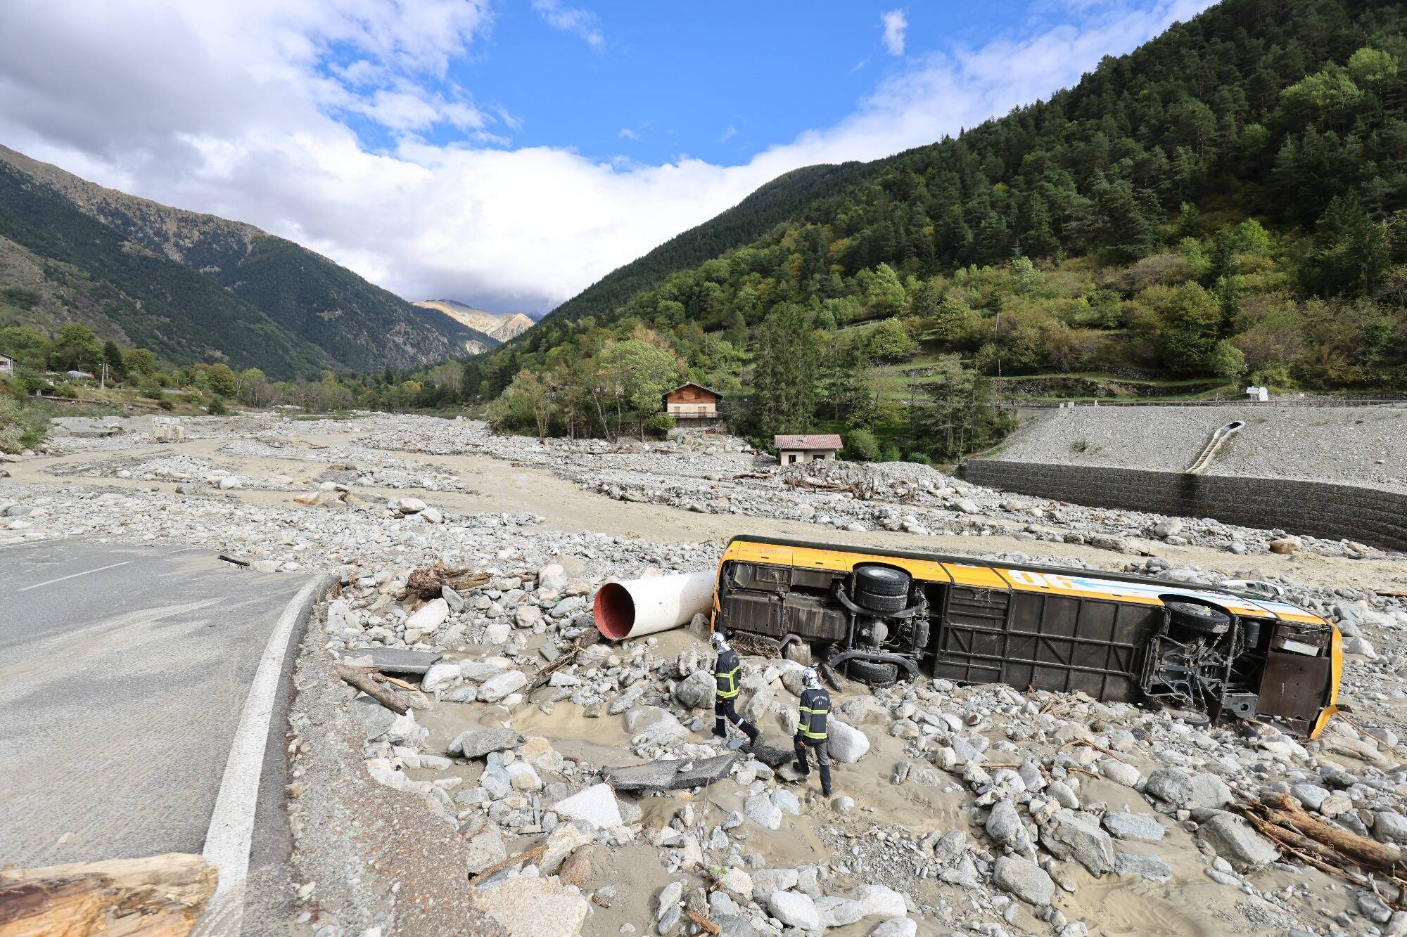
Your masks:
M0 937L184 937L215 893L200 855L0 869Z

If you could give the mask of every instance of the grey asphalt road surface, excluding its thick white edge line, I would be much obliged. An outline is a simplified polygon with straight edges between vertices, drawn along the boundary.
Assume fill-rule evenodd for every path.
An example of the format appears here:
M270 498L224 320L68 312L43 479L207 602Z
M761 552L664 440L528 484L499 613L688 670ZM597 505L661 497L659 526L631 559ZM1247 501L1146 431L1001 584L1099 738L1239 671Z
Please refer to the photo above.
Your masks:
M204 547L0 547L0 864L200 853L249 684L304 582ZM287 854L287 671L250 881Z

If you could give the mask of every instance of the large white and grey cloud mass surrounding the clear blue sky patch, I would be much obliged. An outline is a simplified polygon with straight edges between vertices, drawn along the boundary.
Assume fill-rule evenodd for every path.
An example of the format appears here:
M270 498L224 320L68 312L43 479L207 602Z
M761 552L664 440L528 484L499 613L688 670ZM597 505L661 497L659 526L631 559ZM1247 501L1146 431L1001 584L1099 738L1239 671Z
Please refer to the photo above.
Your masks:
M739 166L656 166L507 148L518 121L443 80L490 28L484 3L6 0L0 35L25 42L0 59L0 142L293 238L412 300L545 311L784 172L974 127L1209 6L1151 3L906 62L847 118ZM390 144L370 149L352 115ZM425 142L435 124L466 139Z

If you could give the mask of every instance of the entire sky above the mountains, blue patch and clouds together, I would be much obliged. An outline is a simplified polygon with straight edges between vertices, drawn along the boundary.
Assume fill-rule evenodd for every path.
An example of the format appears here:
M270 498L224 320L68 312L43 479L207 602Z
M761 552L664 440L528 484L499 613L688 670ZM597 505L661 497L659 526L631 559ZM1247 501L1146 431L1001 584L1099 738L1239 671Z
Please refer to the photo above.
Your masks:
M0 144L540 314L781 173L957 134L1206 6L4 0Z

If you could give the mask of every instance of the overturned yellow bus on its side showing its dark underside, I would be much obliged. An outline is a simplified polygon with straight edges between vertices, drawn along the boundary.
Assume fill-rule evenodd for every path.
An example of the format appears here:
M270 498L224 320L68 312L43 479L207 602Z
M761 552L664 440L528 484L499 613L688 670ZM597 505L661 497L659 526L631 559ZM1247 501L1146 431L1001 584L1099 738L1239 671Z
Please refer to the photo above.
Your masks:
M1082 691L1310 737L1342 674L1337 627L1238 589L756 536L723 552L712 626L879 685Z

